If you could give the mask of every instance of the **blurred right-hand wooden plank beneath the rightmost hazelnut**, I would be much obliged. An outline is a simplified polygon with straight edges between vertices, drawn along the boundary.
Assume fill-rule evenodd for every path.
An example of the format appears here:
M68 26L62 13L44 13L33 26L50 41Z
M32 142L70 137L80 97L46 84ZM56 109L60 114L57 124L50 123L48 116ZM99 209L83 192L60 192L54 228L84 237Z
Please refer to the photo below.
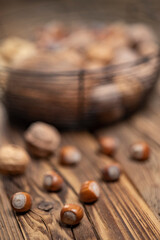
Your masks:
M123 165L129 179L158 219L160 219L159 86L160 84L143 111L140 111L128 121L109 129L101 129L97 133L112 135L120 140L120 147L115 155L115 160ZM130 158L130 145L139 140L148 142L151 148L151 157L144 163Z

